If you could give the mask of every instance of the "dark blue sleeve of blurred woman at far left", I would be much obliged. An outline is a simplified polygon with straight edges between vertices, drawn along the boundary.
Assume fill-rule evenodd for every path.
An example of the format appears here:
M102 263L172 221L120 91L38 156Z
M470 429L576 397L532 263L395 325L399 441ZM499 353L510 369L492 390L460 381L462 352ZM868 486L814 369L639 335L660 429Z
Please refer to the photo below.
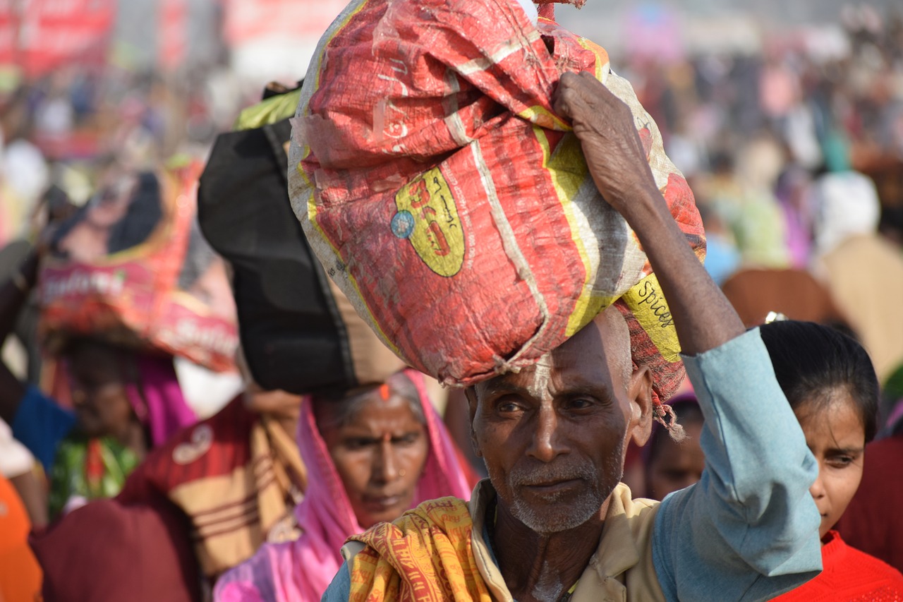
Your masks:
M63 409L33 385L25 390L13 418L13 437L28 447L50 473L57 447L75 426L75 413Z

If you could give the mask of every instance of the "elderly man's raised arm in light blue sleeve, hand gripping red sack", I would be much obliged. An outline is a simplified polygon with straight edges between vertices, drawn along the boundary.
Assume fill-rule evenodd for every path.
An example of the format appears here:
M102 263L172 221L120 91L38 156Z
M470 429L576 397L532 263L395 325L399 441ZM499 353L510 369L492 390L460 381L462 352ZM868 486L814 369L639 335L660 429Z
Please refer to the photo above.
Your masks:
M767 600L801 585L821 569L808 491L818 466L758 330L744 334L677 227L627 105L590 74L567 73L555 109L573 121L596 186L647 253L705 414L703 478L656 515L652 552L666 598Z

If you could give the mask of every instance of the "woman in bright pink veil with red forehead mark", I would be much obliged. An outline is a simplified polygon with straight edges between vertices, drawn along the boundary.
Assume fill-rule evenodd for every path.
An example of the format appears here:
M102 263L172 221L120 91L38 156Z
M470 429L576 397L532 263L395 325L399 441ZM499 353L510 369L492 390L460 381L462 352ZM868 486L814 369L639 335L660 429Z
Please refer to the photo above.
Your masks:
M319 600L341 566L339 550L349 535L425 500L469 499L475 482L428 400L423 375L414 370L340 399L306 397L298 444L309 471L304 500L295 508L301 536L265 543L226 572L215 600Z

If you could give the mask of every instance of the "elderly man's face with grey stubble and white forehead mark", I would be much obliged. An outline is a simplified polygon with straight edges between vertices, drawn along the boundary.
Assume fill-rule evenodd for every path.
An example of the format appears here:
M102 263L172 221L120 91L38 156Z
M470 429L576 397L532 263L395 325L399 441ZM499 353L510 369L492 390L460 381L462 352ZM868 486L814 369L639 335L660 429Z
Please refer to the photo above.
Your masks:
M536 532L573 529L618 484L629 436L646 441L651 377L631 373L627 325L610 307L535 366L469 392L473 443L498 501Z

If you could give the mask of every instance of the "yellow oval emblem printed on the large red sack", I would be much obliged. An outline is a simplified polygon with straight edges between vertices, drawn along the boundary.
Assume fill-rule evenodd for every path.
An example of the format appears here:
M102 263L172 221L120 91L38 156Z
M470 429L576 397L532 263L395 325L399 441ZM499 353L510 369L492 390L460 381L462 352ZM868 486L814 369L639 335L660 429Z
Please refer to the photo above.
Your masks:
M410 241L433 272L452 277L464 264L464 231L452 190L438 167L419 175L396 194L392 233Z

